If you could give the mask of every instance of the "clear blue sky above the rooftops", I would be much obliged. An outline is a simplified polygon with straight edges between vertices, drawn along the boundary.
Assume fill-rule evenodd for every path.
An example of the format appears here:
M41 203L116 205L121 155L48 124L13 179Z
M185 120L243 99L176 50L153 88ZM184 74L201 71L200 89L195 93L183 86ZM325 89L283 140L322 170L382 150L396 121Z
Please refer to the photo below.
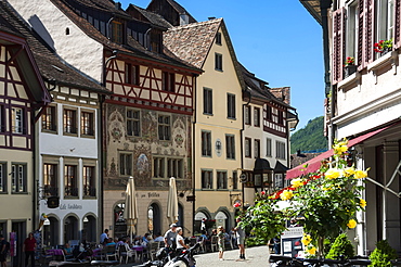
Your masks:
M238 61L270 87L292 88L299 125L323 115L322 28L299 0L176 0L198 22L223 17ZM146 8L151 0L124 0Z

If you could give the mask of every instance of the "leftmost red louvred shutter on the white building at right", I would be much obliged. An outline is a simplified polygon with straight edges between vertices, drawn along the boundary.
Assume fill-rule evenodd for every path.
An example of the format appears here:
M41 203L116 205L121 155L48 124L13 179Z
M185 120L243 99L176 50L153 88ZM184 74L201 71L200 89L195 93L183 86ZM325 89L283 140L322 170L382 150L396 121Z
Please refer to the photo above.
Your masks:
M333 85L342 80L345 48L345 9L333 13Z

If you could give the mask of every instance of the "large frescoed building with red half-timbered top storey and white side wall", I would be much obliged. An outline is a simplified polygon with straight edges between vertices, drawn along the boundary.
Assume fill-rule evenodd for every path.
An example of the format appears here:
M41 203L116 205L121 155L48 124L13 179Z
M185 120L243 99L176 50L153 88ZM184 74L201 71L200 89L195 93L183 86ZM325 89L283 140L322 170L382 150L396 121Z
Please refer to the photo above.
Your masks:
M192 187L193 90L200 71L163 51L168 23L132 7L129 14L106 0L11 2L62 59L113 92L102 105L104 228L112 237L127 233L121 215L130 176L139 234L168 228L170 177L181 196L179 224L190 224L192 203L185 196Z

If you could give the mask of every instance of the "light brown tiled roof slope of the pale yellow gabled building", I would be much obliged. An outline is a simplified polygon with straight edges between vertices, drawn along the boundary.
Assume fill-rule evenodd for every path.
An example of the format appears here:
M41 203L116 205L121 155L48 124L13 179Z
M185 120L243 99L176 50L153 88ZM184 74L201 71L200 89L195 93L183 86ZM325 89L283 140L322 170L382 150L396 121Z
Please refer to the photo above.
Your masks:
M202 68L222 18L191 23L168 29L164 34L166 53Z

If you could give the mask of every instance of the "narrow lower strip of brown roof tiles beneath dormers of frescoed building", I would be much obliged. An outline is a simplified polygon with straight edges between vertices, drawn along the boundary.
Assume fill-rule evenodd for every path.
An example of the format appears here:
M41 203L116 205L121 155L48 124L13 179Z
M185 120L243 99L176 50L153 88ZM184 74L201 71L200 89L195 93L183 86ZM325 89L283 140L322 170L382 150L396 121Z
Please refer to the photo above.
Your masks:
M183 68L192 68L193 71L199 72L199 69L194 69L192 65L171 59L168 55L155 53L146 50L132 37L127 38L128 46L112 42L104 35L102 35L92 24L90 24L86 18L79 16L74 10L65 3L66 0L50 0L55 7L57 7L73 23L75 23L82 31L85 31L89 37L102 43L105 48L111 50L118 50L127 55L142 58L146 60L153 60L155 62L160 62L164 64L171 64L174 66ZM69 0L73 1L73 0ZM82 1L82 0L79 0ZM96 2L96 0L86 0L89 2ZM107 1L107 0L102 0Z

